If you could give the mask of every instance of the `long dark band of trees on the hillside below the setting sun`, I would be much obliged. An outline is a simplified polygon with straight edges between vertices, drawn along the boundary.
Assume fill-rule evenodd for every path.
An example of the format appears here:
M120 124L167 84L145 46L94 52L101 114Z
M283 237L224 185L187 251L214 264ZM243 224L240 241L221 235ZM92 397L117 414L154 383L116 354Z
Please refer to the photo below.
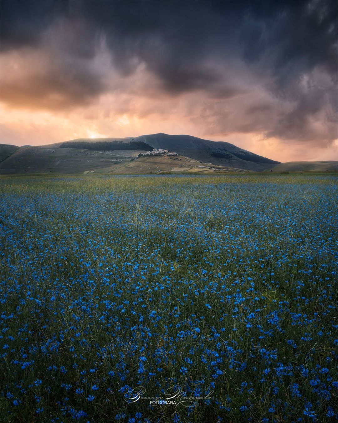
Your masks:
M85 150L105 151L105 150L144 150L152 151L154 147L149 146L143 141L66 141L60 145L60 148L82 148Z

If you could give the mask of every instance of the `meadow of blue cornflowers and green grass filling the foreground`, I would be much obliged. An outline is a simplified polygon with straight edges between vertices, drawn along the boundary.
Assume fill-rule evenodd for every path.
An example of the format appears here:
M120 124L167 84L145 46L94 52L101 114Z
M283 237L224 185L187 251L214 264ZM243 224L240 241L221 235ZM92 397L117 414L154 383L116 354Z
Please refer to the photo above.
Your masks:
M1 192L1 421L336 420L335 176Z

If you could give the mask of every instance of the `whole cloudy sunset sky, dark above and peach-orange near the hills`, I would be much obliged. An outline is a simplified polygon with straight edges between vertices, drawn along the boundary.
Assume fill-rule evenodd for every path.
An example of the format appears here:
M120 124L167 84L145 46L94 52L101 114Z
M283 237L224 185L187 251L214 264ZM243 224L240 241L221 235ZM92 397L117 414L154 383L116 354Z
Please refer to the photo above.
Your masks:
M337 160L336 1L0 3L0 137L165 132Z

